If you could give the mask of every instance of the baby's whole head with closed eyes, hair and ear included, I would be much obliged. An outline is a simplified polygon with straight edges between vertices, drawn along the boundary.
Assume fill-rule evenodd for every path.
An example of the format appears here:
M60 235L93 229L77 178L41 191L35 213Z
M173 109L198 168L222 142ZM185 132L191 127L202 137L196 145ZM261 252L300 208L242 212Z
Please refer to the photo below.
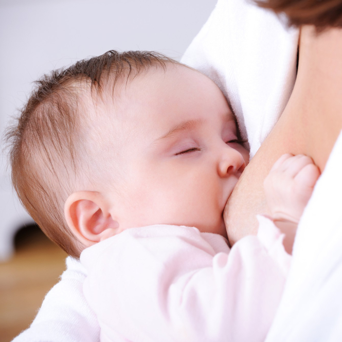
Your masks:
M218 86L152 52L52 71L8 137L16 192L73 257L153 224L226 236L222 212L248 161Z

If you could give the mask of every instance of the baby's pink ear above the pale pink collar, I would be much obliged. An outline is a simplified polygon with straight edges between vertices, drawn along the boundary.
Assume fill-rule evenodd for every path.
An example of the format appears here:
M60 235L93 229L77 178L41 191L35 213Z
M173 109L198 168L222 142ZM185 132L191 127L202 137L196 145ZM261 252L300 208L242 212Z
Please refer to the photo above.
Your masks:
M74 192L65 202L64 215L71 232L87 247L119 232L110 204L99 192Z

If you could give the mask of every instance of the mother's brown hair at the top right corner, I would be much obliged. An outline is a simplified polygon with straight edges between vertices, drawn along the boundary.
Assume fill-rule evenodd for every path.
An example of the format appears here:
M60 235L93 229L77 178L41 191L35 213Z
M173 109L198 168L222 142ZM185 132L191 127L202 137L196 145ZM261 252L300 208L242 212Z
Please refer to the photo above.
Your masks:
M256 0L256 3L276 13L285 13L291 26L315 25L318 31L342 28L342 0Z

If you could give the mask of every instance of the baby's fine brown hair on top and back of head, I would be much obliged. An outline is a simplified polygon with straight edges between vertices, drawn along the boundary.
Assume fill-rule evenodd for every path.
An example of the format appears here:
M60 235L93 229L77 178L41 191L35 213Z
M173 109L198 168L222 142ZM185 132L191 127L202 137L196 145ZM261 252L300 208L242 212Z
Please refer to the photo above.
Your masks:
M82 88L101 93L152 67L177 63L147 51L108 51L51 71L36 81L26 105L7 131L12 183L20 201L47 237L72 257L82 245L64 218L64 203L74 191L82 143L79 98ZM83 92L84 93L84 92Z

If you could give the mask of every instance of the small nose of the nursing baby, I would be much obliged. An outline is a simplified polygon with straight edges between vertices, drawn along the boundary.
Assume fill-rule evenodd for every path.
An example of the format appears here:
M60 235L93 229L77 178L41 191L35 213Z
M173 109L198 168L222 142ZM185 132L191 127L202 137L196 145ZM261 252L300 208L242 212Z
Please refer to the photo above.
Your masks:
M242 154L229 146L223 153L221 160L219 161L219 174L221 177L226 177L231 174L241 173L246 166L245 160Z

